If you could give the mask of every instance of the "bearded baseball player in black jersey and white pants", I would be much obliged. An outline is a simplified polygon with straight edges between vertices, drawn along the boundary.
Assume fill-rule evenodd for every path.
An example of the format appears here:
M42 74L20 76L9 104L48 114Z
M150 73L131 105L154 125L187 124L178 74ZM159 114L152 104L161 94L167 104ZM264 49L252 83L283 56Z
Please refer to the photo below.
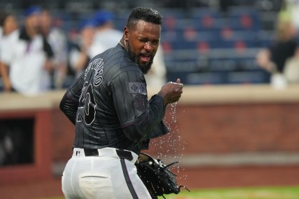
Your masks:
M122 39L96 55L66 91L60 109L75 124L73 156L62 176L66 198L151 198L136 172L149 140L168 133L166 105L183 84L168 82L147 100L144 74L159 46L161 15L134 8Z

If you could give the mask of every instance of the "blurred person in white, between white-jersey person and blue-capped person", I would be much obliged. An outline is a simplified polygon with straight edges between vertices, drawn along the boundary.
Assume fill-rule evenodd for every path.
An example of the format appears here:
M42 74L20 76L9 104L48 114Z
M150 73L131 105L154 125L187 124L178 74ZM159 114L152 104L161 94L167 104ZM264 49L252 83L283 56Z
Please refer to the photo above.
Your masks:
M41 11L41 34L51 45L54 57L52 64L52 87L60 89L63 85L67 70L67 40L64 31L54 27L50 10L43 8Z

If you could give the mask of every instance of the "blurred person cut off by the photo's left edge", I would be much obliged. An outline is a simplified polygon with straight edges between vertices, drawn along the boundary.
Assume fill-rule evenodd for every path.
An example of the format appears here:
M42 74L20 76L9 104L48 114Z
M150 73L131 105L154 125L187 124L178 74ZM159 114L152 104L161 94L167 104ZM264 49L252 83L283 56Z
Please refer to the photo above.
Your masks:
M12 13L3 13L0 18L0 26L1 26L1 36L0 36L0 53L1 50L4 50L4 47L10 39L10 34L13 33L13 31L16 31L18 29L18 23L17 18ZM10 81L8 78L8 68L5 66L5 64L2 64L0 60L0 76L3 80L3 89L4 91L10 90ZM4 77L3 77L4 76Z

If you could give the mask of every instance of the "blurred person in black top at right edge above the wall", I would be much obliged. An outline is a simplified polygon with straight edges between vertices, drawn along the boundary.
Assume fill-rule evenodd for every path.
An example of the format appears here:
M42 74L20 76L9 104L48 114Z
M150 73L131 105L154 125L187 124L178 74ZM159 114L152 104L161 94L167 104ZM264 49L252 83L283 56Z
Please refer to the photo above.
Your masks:
M296 30L291 22L280 20L276 28L277 39L272 45L258 52L256 61L259 66L272 74L271 84L287 84L286 67L291 59L299 59Z

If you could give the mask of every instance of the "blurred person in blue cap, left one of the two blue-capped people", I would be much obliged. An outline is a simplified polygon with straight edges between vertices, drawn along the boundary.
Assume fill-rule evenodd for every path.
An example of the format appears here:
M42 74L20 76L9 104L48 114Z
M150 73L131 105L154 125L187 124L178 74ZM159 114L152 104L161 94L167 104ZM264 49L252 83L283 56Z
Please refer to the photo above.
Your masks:
M94 32L96 23L92 19L82 20L79 27L78 40L71 43L71 50L68 54L68 63L71 70L75 73L75 78L78 78L85 70L89 60L92 58L90 55L90 46L94 40ZM105 49L98 47L99 51Z

